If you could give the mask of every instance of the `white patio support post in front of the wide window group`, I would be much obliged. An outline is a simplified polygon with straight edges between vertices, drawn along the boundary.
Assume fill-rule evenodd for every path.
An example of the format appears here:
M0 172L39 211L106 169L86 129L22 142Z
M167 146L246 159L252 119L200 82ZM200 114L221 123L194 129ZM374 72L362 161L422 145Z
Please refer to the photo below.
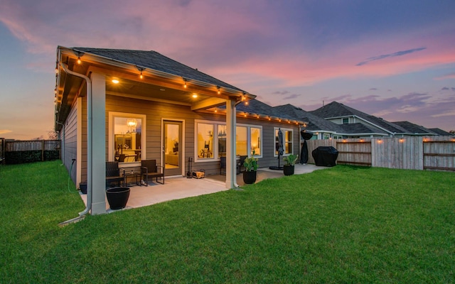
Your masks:
M237 185L237 160L235 157L235 101L226 102L226 188Z

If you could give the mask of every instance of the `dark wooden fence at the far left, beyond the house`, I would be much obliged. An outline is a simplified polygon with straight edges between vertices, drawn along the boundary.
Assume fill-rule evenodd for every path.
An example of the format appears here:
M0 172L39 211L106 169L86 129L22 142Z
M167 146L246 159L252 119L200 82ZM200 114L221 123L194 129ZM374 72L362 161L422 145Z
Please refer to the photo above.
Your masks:
M7 164L60 159L60 140L5 141Z

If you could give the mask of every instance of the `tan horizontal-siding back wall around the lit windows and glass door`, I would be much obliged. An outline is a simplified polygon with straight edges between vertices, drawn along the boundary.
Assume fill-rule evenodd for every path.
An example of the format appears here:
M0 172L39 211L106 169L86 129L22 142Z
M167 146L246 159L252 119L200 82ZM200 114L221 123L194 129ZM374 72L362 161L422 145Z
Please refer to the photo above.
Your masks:
M81 180L87 180L87 99L82 98L82 175ZM205 112L191 111L190 107L166 102L154 102L142 99L131 99L106 95L106 160L108 160L109 149L109 111L123 112L130 114L146 115L146 153L144 159L155 159L161 164L161 121L162 119L176 119L185 121L183 129L184 145L184 168L183 173L188 170L188 158L193 158L192 170L205 170L207 175L220 173L220 161L198 161L195 162L195 120L221 121L225 122L224 114L211 114ZM237 124L249 124L262 126L262 158L259 158L259 168L268 168L270 165L278 165L277 156L274 156L274 127L282 127L293 130L293 151L300 153L300 129L295 124L284 124L264 121L259 119L245 119L237 116ZM144 134L143 134L144 135ZM280 165L284 162L280 157Z

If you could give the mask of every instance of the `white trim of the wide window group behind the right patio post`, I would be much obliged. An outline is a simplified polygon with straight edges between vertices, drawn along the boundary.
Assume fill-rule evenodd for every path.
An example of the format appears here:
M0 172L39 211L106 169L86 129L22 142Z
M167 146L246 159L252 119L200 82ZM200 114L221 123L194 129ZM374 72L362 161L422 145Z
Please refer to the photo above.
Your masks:
M198 143L198 124L213 124L214 126L214 131L213 131L213 158L199 158L198 153L196 151L197 149L197 143ZM195 163L204 163L204 162L213 162L213 161L218 161L220 158L218 158L218 143L215 143L215 141L218 141L218 131L216 131L216 128L218 125L226 125L225 121L212 121L212 120L200 120L200 119L195 119L194 120L194 162ZM262 145L264 145L264 140L262 140L262 125L256 125L256 124L236 124L237 126L244 126L247 127L247 152L251 153L251 128L254 127L256 129L261 129L261 134L260 134L260 141L262 141ZM216 146L215 146L216 145ZM262 147L263 149L264 147ZM261 155L255 155L255 158L262 158L262 153L264 150L261 151ZM250 154L248 153L248 156L250 157ZM216 158L215 158L216 157Z

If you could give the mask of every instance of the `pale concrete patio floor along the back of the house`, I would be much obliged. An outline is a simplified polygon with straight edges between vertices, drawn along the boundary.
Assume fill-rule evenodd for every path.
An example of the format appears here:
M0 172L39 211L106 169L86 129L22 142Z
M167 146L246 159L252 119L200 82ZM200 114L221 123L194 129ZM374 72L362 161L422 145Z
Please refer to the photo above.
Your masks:
M311 173L314 170L322 170L326 167L319 167L316 165L295 165L295 175ZM281 178L283 177L282 170L270 170L269 168L257 169L257 180L265 180L267 178ZM242 174L237 175L237 185L245 185L243 182ZM166 202L170 200L180 200L188 197L196 197L199 195L209 195L215 192L228 190L225 187L225 175L208 175L202 179L174 177L166 178L166 183L161 185L153 183L146 186L130 187L129 200L127 209L138 208ZM87 195L80 195L82 200L87 204ZM106 200L107 212L114 212L117 210L110 210L109 203Z

